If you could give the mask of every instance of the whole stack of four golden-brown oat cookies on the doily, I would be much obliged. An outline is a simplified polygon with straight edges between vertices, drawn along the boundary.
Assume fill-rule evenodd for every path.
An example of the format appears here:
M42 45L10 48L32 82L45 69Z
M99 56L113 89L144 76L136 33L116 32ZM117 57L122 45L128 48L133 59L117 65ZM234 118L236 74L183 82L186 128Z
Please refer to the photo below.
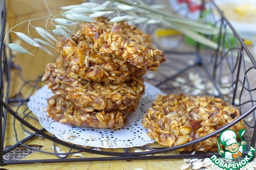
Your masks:
M142 76L165 61L150 35L104 18L84 23L78 36L57 44L57 51L59 57L42 78L54 93L49 115L93 128L122 127L144 93Z

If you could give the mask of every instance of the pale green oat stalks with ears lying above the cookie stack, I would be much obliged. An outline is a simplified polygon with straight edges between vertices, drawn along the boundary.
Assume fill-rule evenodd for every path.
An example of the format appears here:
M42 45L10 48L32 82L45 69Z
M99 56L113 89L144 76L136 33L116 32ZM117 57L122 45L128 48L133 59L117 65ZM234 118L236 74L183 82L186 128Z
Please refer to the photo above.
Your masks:
M217 43L201 35L215 35L218 33L217 28L206 25L205 23L199 21L190 20L185 17L163 12L161 9L159 9L161 6L150 6L141 0L111 0L106 1L103 4L82 3L80 5L60 7L61 11L58 14L52 14L45 0L44 2L49 11L49 15L40 18L28 19L18 23L18 25L12 27L9 30L6 37L11 32L15 33L25 42L38 47L39 50L43 50L46 53L52 55L52 53L47 48L52 47L50 45L51 43L54 44L54 42L57 42L52 35L65 36L66 38L71 39L70 36L75 35L75 33L71 31L74 29L69 29L70 27L81 27L81 22L97 22L95 18L104 16L108 17L109 22L130 21L132 23L144 23L145 26L161 22L166 27L179 30L184 35L206 46L214 49L216 49L218 46ZM45 29L32 25L34 20L44 18L47 18ZM17 26L26 22L28 23L27 35L25 33L13 31ZM49 25L52 25L55 29L48 29L47 26ZM38 35L41 36L42 39L32 37L29 34L30 27L35 29L35 31L38 33ZM11 50L15 52L33 55L22 46L14 45L14 43L6 44L11 48Z

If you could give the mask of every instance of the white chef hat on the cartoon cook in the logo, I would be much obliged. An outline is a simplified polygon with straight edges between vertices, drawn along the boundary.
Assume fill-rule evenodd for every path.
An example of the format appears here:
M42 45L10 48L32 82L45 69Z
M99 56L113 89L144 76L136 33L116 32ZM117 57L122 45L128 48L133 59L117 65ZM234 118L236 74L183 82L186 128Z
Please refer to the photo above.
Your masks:
M226 147L233 143L238 143L237 141L237 134L233 130L225 130L219 136L219 140L221 144L225 145Z

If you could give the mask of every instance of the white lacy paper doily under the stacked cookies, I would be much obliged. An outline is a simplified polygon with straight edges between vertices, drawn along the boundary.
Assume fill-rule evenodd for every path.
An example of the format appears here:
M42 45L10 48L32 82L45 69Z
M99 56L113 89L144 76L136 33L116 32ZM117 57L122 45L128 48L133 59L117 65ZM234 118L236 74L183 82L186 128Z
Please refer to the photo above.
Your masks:
M60 140L97 148L131 148L154 142L147 136L141 121L145 110L152 106L158 94L164 95L157 87L145 83L145 94L138 108L127 117L127 123L119 130L70 126L50 118L48 112L44 112L47 99L53 95L47 85L30 97L28 107L39 118L41 126Z

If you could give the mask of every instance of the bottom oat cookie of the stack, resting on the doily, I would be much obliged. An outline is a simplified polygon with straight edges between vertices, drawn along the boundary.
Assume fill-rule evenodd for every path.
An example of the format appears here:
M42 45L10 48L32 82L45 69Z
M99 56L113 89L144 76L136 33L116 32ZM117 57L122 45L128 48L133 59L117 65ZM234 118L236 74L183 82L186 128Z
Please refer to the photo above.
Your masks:
M54 95L48 99L47 111L49 116L60 123L92 127L92 128L121 128L126 123L126 116L134 112L139 100L124 110L111 111L93 111L90 113L83 112L76 107L70 100L63 98L61 95Z

